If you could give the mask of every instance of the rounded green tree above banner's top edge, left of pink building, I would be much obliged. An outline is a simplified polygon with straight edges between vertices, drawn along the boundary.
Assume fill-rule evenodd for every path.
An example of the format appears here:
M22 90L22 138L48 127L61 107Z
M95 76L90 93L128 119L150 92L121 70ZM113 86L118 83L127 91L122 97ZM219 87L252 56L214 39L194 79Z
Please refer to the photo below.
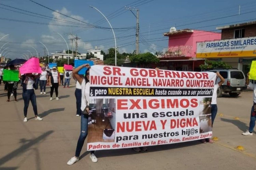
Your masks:
M143 65L144 68L148 68L148 65L151 63L160 62L159 58L150 52L132 55L130 56L130 61L131 63L136 63L138 66Z

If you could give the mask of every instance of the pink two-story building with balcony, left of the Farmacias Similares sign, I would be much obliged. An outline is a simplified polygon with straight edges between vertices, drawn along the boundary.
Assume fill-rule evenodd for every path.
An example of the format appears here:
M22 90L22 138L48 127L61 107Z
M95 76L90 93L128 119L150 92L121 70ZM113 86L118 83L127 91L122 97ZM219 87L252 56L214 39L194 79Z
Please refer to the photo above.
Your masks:
M197 43L221 39L221 33L190 29L176 31L173 27L163 36L169 36L169 44L163 49L158 67L177 71L200 71L199 65L204 64L204 59L196 58Z

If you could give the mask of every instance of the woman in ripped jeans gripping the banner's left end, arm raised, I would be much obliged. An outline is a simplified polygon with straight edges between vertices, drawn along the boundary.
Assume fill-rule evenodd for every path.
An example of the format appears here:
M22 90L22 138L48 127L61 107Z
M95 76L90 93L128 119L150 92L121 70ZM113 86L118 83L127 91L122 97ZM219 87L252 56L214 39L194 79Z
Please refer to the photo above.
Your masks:
M86 70L86 77L80 77L80 75L78 74L79 70L81 70L82 68L88 68ZM81 111L84 111L85 109L87 109L88 111L88 107L89 106L89 90L90 90L90 73L89 73L89 64L84 64L82 66L77 67L76 69L73 70L73 74L75 79L81 84L82 86L82 98L81 98ZM69 161L68 161L68 165L73 165L75 162L77 162L79 160L79 156L82 150L82 147L84 145L84 141L85 138L87 137L87 130L88 130L88 115L81 115L81 132L80 132L80 136L79 139L77 141L77 145L76 145L76 150L75 150L75 156L72 157ZM91 151L90 152L90 158L92 162L97 162L98 159L95 156L95 151Z

